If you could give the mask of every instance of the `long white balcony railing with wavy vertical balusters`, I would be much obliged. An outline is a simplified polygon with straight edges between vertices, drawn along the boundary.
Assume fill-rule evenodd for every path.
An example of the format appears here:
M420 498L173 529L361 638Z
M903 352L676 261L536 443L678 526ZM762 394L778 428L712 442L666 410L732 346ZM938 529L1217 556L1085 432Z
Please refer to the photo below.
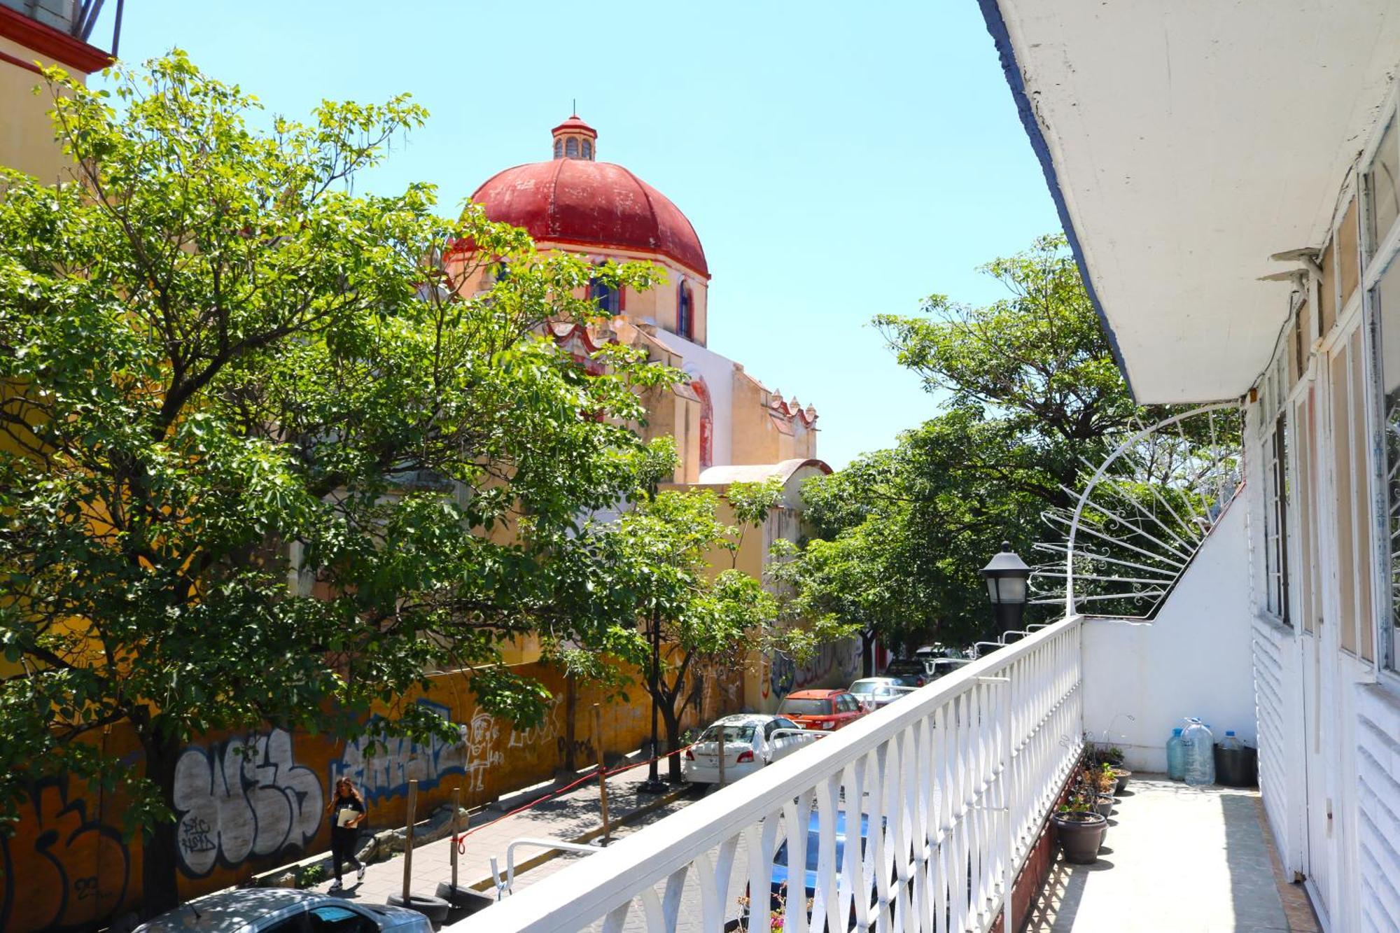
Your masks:
M1079 619L1057 622L449 930L718 933L746 890L767 930L784 842L815 866L784 933L987 930L1081 752L1079 670Z

